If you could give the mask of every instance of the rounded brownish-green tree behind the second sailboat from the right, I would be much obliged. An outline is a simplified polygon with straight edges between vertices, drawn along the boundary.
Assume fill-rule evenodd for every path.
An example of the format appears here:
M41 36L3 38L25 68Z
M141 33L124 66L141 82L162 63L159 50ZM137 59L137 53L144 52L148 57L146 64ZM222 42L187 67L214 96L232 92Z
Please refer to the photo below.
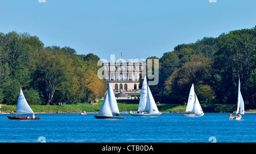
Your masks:
M212 81L212 63L205 58L194 56L181 68L174 70L164 86L168 99L172 102L187 101L192 84L209 83Z

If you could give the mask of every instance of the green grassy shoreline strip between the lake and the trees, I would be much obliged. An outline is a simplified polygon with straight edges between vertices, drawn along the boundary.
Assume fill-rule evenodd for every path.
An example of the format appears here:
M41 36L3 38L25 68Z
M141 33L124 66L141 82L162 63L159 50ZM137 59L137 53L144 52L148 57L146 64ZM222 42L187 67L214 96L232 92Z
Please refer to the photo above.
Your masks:
M71 111L86 111L88 113L97 113L100 110L103 100L100 100L97 104L90 105L88 103L78 103L74 105L30 105L34 113L70 113ZM125 102L125 103L123 103ZM139 100L135 99L118 99L119 111L137 111L139 106ZM179 104L165 104L161 103L157 105L158 109L162 113L184 113L186 106ZM230 111L236 111L237 105L230 104L201 104L204 113L230 113ZM256 113L256 107L253 105L246 105L246 113ZM2 105L2 113L15 112L16 105Z

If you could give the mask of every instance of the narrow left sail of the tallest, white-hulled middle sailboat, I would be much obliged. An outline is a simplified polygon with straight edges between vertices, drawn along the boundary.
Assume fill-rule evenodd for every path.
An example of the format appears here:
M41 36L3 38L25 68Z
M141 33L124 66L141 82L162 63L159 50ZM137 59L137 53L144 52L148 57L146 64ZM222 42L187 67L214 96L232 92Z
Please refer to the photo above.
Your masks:
M147 78L144 77L144 81L141 89L141 97L139 98L139 109L138 111L144 111L147 103Z

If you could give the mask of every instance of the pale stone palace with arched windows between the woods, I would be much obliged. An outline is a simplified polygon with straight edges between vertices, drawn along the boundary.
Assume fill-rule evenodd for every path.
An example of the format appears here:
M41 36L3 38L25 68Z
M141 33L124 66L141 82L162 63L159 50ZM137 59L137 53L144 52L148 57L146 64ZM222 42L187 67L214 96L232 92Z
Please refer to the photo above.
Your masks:
M139 63L123 62L122 59L118 60L118 63L110 61L110 63L104 63L106 69L106 80L115 90L138 90L140 84L140 74L145 70L144 61Z

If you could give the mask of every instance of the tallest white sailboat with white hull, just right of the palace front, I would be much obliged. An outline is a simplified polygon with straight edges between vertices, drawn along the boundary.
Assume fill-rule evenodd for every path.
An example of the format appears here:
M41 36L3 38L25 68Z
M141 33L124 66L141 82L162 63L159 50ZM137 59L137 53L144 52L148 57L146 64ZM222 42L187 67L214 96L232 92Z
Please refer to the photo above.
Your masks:
M158 107L155 104L155 100L152 96L150 88L147 85L146 76L142 84L141 97L139 99L139 109L137 113L133 113L133 116L159 116Z

